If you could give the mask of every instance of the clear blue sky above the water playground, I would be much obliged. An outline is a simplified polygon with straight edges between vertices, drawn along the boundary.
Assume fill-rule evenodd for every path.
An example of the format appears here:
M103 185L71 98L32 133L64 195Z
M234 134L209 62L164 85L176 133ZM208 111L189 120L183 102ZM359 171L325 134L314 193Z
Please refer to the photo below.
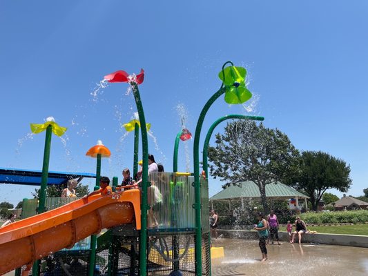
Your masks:
M112 152L102 174L121 179L133 165L133 133L122 124L134 116L135 103L126 83L100 89L97 83L115 70L144 68L139 89L156 139L150 152L170 171L181 114L194 132L204 103L221 85L222 64L231 60L248 70L253 100L244 108L218 99L202 142L219 117L261 115L296 148L347 161L348 195L362 195L368 188L367 30L366 0L3 0L0 167L41 170L45 135L30 135L29 124L52 116L68 131L52 137L50 170L95 172L96 160L85 154L101 139ZM186 170L185 146L193 170L193 141L180 144L179 170ZM221 185L211 180L210 195ZM17 204L35 187L0 188L0 201Z

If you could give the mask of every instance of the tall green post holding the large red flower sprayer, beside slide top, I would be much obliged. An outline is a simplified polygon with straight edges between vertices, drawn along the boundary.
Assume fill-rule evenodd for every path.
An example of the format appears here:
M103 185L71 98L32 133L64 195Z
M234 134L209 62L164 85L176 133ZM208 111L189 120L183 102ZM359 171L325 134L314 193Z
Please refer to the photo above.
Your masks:
M141 135L142 135L142 155L143 155L143 170L142 170L142 202L141 202L141 231L139 233L139 275L146 276L147 268L147 187L148 187L148 137L146 118L144 117L144 110L139 95L137 83L130 83L137 105L137 111L139 115L139 121L141 124Z

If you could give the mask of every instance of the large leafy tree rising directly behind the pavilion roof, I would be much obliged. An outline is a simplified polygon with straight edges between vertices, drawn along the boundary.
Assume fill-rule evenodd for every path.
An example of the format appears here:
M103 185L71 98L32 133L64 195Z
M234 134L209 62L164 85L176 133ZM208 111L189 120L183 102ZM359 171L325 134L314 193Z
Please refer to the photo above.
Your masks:
M284 179L296 168L298 150L289 137L278 129L239 120L227 124L224 134L216 135L215 143L215 147L209 147L211 175L229 181L223 188L253 181L268 213L266 185Z

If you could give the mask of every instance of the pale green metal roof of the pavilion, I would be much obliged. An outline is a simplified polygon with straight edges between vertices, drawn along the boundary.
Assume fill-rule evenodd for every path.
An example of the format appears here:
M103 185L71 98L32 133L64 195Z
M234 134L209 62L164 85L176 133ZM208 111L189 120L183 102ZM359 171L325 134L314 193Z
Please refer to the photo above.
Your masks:
M242 197L260 197L260 190L253 181L240 182L235 186L230 186L213 197L210 200L218 199L239 199ZM266 197L289 199L293 197L309 198L307 195L299 193L296 189L286 186L280 182L266 185Z

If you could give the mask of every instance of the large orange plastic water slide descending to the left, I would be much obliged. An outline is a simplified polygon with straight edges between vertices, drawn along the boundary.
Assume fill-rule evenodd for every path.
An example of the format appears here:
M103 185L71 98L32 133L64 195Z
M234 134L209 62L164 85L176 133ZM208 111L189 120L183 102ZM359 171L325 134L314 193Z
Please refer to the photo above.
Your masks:
M81 239L119 224L141 228L137 189L78 199L0 229L0 275L27 266Z

